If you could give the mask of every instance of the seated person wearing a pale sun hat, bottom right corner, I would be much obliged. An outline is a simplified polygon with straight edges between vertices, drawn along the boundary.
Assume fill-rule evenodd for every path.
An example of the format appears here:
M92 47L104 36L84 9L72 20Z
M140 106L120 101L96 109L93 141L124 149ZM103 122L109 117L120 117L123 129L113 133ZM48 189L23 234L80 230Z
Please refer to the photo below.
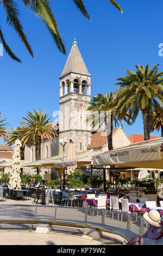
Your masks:
M160 223L160 213L152 210L146 212L143 218L150 224L150 227L141 237L132 237L127 245L163 245L163 219Z

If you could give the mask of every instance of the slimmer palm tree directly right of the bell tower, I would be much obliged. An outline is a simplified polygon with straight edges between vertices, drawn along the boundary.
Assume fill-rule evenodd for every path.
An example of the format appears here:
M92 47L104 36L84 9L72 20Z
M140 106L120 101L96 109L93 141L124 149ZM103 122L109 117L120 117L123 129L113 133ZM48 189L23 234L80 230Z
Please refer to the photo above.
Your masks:
M122 126L122 118L119 118L118 115L116 114L116 106L113 105L114 103L114 96L113 93L111 92L106 93L103 95L102 93L98 93L98 96L93 97L91 99L91 102L89 103L90 106L88 106L87 110L97 111L98 115L102 115L100 118L101 121L99 122L99 126L104 122L106 131L107 131L107 136L108 136L108 149L112 150L112 129L113 129L113 123L119 126L119 122L121 123ZM110 113L110 114L109 114ZM125 121L128 122L127 119L127 114L126 116L123 117ZM95 124L96 125L96 124ZM98 129L98 127L97 127Z

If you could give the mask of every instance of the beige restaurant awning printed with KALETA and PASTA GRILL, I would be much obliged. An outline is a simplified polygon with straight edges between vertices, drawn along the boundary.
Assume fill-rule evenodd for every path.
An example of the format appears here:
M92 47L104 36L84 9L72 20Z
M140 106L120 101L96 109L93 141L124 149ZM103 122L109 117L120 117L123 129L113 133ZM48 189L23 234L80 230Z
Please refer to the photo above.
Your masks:
M143 141L92 157L93 165L163 169L163 138Z

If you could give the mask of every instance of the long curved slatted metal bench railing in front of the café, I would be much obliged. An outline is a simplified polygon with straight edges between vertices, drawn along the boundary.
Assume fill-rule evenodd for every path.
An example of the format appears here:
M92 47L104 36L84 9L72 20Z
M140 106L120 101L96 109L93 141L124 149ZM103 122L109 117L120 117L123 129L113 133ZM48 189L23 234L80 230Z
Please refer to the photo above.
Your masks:
M93 227L127 240L131 235L143 235L148 228L143 217L125 212L56 205L0 205L0 223L15 222Z

